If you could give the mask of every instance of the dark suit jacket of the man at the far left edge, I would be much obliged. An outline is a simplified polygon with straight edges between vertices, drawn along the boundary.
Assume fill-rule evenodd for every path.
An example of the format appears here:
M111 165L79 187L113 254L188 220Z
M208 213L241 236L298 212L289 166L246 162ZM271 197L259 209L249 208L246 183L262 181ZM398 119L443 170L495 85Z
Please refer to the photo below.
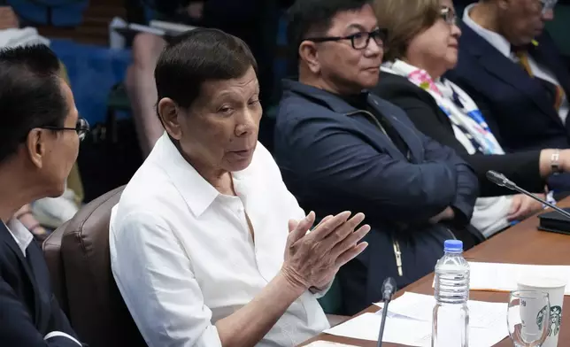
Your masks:
M24 257L4 223L0 223L0 345L2 347L77 347L65 337L44 341L60 331L77 339L50 289L42 250L32 242Z

